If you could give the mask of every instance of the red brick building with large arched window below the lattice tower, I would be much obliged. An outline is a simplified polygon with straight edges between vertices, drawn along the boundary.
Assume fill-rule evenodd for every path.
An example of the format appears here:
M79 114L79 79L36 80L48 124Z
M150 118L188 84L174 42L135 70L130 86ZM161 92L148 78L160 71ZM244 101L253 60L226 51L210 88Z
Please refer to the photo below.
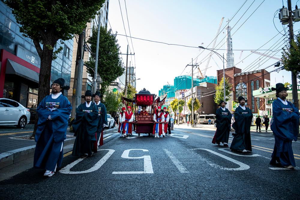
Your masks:
M223 70L217 70L217 81L220 82L223 77ZM231 67L225 69L225 78L229 79L232 86L232 96L229 100L229 110L233 100L237 100L239 96L243 96L247 99L247 107L249 107L252 113L257 113L257 107L259 110L269 110L271 105L265 103L264 98L254 98L252 92L254 90L270 86L270 73L268 71L253 70L249 72L241 72L241 69L237 67Z

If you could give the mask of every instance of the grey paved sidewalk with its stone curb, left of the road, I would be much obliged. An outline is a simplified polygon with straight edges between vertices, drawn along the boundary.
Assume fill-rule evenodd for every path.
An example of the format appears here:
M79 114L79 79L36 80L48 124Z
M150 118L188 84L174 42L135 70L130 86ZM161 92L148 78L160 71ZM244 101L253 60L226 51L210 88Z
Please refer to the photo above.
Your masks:
M106 129L103 131L104 137L118 130L118 127ZM75 141L74 133L68 132L67 139L64 140L64 147L73 145ZM18 137L32 135L33 131L20 131L15 133L0 134L0 169L26 160L34 156L35 144L34 140L18 139Z

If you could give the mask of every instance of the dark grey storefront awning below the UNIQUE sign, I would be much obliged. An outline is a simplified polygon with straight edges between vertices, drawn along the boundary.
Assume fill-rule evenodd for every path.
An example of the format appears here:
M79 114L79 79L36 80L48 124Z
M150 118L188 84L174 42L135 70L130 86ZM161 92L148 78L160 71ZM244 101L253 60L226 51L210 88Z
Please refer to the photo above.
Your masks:
M10 59L7 59L6 74L16 74L36 83L38 83L39 81L39 73L27 67L24 67L23 65L16 63Z

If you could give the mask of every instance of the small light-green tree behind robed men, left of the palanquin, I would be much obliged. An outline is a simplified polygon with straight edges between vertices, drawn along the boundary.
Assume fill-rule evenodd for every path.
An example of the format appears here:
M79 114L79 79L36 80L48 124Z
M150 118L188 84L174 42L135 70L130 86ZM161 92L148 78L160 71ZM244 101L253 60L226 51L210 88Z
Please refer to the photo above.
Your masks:
M122 106L120 101L120 93L118 91L105 92L103 103L106 107L107 113L115 116L119 108Z

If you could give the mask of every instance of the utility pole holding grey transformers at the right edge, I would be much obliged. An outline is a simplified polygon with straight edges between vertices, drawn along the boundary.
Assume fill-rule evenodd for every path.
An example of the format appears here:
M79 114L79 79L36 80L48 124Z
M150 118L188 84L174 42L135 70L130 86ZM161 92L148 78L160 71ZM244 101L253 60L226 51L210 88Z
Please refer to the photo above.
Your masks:
M293 15L292 15L291 0L287 0L287 9L289 10L289 44L290 44L290 48L293 48L292 42L294 41L294 30L293 30ZM299 109L298 91L297 91L297 76L294 72L292 72L292 97L293 97L292 103L296 106L296 108Z

